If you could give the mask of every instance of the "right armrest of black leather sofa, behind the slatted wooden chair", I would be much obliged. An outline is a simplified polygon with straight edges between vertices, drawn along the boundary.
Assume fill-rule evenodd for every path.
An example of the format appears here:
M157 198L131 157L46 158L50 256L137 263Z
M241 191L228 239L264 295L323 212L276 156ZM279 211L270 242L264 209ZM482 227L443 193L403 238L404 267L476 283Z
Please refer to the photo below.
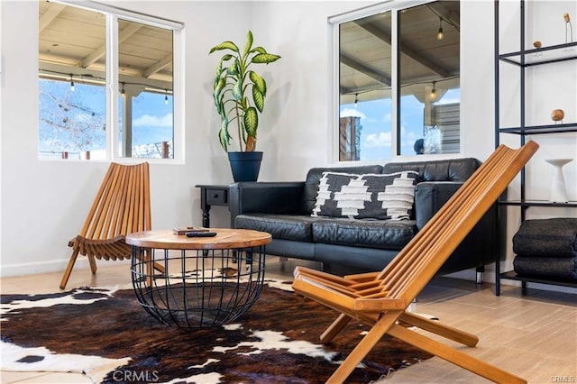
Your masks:
M450 197L462 181L424 181L415 187L415 220L420 230Z

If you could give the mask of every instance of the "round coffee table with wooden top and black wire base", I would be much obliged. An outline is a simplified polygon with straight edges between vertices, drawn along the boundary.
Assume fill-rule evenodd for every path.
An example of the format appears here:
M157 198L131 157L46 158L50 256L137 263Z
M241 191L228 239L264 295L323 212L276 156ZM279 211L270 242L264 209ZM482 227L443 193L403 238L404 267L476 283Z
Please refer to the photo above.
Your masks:
M131 233L133 288L140 305L166 325L223 325L261 293L270 233L210 228L215 237L171 230Z

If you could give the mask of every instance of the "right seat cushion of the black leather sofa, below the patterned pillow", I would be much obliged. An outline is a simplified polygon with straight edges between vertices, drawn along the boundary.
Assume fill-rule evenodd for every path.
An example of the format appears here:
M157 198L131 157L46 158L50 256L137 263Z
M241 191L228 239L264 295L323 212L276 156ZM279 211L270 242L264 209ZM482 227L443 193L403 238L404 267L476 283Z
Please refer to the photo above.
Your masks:
M312 223L313 241L401 250L416 234L414 220L333 218Z

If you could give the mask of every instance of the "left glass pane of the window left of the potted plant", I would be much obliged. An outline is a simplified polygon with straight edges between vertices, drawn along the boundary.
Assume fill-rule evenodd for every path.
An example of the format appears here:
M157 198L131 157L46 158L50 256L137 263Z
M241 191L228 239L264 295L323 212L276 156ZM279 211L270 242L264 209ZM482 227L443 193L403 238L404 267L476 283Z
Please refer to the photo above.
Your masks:
M105 16L39 2L39 156L105 158Z

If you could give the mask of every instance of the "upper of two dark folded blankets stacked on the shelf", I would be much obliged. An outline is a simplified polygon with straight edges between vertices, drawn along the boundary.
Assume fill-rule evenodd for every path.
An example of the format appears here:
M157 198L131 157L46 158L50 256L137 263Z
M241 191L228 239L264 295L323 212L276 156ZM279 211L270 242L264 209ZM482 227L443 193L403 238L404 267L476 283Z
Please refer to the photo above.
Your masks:
M513 251L525 257L577 257L577 219L526 220L513 236Z

